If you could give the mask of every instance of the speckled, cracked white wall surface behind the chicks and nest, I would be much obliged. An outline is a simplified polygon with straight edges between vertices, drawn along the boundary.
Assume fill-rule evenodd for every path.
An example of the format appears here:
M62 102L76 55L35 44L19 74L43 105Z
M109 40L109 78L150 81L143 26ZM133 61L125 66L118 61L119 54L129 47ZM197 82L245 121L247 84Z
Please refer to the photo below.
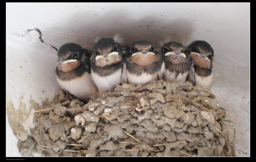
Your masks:
M34 28L44 43L35 30L26 32ZM97 36L117 33L127 44L148 40L156 47L167 37L184 45L209 42L212 91L236 118L238 149L248 153L238 156L250 156L250 3L6 3L7 99L18 109L20 102L41 104L59 92L51 45L75 42L92 49ZM6 140L6 156L20 156L10 128L7 138L13 140Z

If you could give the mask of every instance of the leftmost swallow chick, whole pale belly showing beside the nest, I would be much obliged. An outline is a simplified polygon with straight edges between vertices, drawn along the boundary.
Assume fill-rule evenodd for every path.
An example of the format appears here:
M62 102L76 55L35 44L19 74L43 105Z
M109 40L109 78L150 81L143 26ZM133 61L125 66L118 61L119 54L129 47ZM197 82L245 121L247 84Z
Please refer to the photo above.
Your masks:
M60 87L84 102L88 102L90 96L96 96L98 92L90 75L91 55L91 51L76 43L66 43L58 51L55 70Z

